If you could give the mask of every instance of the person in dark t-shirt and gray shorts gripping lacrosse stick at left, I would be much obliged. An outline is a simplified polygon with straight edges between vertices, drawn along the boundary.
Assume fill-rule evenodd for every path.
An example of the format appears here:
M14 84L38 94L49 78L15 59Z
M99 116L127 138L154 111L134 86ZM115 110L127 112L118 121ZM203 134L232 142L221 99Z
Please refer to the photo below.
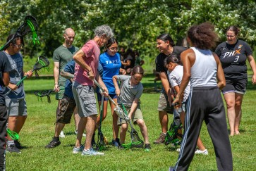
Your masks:
M5 96L8 113L8 129L19 134L27 118L27 103L25 101L23 82L18 86L16 84L24 75L31 77L32 71L23 71L23 56L20 53L20 49L23 47L23 38L16 37L15 34L11 34L8 36L7 42L10 40L11 42L4 50L4 53L8 57L12 70L9 72L10 83L7 86L8 89L5 89L4 94L6 94L10 89L12 90ZM19 141L13 141L10 136L7 136L6 151L20 153L21 148L23 148L23 146L20 146Z

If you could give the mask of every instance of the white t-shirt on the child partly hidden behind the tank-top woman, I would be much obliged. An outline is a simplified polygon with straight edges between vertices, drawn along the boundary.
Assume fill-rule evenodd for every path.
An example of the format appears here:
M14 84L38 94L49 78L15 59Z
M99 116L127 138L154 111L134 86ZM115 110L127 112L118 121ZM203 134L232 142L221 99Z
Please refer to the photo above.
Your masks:
M183 77L183 66L177 65L173 71L169 74L169 82L171 84L171 87L180 87L181 86L181 80ZM175 92L177 93L177 92ZM188 99L188 96L190 94L190 82L188 82L187 87L185 87L184 96L183 96L183 102L185 102Z

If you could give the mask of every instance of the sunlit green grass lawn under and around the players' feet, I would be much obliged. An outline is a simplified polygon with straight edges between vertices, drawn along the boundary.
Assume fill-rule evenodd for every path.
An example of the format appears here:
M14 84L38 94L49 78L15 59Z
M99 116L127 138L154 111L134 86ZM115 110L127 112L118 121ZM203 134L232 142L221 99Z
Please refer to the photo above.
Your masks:
M142 149L118 150L109 145L104 151L105 156L91 157L72 154L75 145L73 120L64 128L66 138L61 139L60 146L54 149L44 148L54 136L57 101L54 99L54 94L51 95L51 103L47 103L46 98L38 101L33 92L38 89L53 89L54 80L51 77L25 80L28 119L20 132L20 142L26 148L20 154L6 154L6 170L168 170L169 166L176 163L178 153L169 146L153 144L161 132L157 112L159 93L154 91L153 79L152 75L146 75L142 79L145 93L141 98L142 113L149 131L152 150L150 152ZM157 87L160 89L161 82L157 82ZM255 170L256 167L255 96L255 87L249 80L248 93L245 94L243 100L242 131L239 136L231 137L233 170ZM169 118L172 120L172 115L169 115ZM137 126L135 129L139 131ZM111 115L109 113L103 122L102 131L111 141ZM205 124L200 137L209 155L195 156L190 170L217 170L214 148Z

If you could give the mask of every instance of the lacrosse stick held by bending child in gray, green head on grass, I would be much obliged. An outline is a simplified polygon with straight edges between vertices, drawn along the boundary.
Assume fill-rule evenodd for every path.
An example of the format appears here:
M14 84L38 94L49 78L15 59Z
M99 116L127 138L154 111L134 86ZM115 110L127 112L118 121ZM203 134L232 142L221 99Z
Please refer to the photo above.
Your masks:
M123 101L121 100L121 98L119 98L119 100L121 102L124 113L128 116L128 112L126 110L126 107L123 105ZM142 148L144 142L142 141L142 139L140 139L138 132L134 129L131 120L126 120L126 122L128 122L128 124L130 125L131 130L128 129L128 132L130 133L130 138L132 139L132 146L136 148Z

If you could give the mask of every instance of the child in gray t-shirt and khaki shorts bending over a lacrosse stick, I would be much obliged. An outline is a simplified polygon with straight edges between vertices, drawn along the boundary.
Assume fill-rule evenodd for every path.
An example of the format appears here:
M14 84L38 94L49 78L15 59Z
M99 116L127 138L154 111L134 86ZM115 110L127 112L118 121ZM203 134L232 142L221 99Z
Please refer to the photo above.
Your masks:
M123 101L123 105L126 106L130 120L139 125L140 132L145 141L145 150L150 150L151 147L148 139L147 127L140 110L140 96L143 91L143 86L140 81L144 75L144 70L139 65L135 66L130 75L131 76L114 75L113 82L116 89L116 95L119 96ZM118 87L118 81L121 81L121 90ZM118 120L118 125L121 125L120 143L124 144L128 125L125 120ZM119 146L118 148L123 148L123 146Z

